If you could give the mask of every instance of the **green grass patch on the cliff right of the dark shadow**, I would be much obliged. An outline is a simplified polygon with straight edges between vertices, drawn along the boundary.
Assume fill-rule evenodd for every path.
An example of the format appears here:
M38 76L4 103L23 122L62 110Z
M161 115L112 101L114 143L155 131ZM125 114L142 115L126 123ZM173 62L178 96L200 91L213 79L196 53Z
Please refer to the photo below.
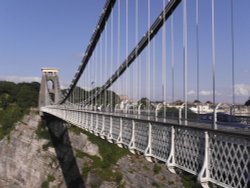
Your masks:
M111 144L108 141L103 140L89 132L81 130L78 127L71 127L70 131L74 132L77 135L79 135L80 133L87 135L89 141L98 146L99 153L101 155L101 158L98 156L91 156L75 149L76 157L87 157L92 160L92 163L84 164L84 167L82 168L83 177L86 179L88 173L91 171L96 174L102 181L113 181L116 182L118 186L122 187L121 182L123 176L119 171L113 170L112 167L120 158L128 155L129 151L123 148L119 148L117 145Z

